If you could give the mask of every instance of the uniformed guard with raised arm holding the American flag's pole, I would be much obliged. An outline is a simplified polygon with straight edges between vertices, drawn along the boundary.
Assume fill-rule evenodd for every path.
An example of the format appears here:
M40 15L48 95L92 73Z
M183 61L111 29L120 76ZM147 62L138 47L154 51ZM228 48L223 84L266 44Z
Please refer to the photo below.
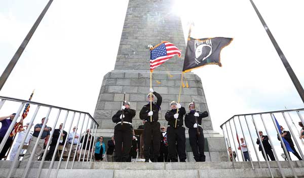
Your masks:
M151 95L151 97L150 97ZM157 97L157 102L154 103L154 97ZM160 152L160 140L161 140L161 132L160 128L161 125L158 122L159 118L159 110L161 109L162 104L162 96L158 94L157 92L153 91L152 88L150 88L150 93L147 95L149 103L144 105L139 113L139 118L141 120L145 120L144 123L144 130L143 130L143 136L144 136L144 149L143 154L145 158L145 162L149 162L149 158L153 157L153 162L157 162ZM152 101L152 110L150 110L150 101ZM150 121L150 116L152 116L152 122ZM151 140L153 142L153 155L150 155L150 146L151 146Z

